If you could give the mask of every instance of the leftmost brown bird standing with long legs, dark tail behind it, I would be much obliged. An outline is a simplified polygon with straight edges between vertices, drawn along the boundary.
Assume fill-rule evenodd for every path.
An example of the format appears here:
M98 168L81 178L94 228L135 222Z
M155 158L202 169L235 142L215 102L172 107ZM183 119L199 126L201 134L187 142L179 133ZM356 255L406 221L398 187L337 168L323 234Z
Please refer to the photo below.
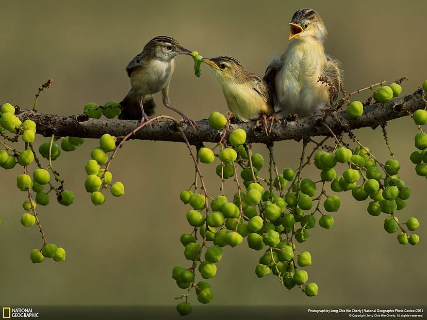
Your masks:
M126 67L131 78L131 90L120 102L122 112L119 119L141 121L148 120L154 113L153 94L162 91L163 104L166 108L179 113L184 121L193 128L195 122L183 112L170 105L169 85L175 70L177 55L190 55L191 51L182 47L177 40L168 36L157 36L144 46Z

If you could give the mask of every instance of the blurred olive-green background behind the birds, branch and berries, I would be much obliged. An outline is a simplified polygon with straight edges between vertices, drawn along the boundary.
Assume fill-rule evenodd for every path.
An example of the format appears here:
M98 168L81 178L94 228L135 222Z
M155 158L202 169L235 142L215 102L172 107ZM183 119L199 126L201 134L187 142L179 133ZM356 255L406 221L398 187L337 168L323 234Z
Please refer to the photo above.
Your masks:
M406 75L403 94L410 94L427 78L425 1L2 1L0 102L32 107L37 88L48 78L54 83L39 98L40 112L78 114L87 102L120 101L130 88L126 65L157 35L172 36L206 57L233 56L263 75L269 60L287 46L288 21L304 7L324 19L326 50L341 60L347 91ZM196 78L186 56L176 58L170 98L196 120L227 111L207 66ZM176 116L164 108L160 95L156 101L157 114ZM411 119L400 119L388 129L401 176L412 188L411 201L398 217L419 219L420 243L399 245L396 234L383 230L384 215L371 217L367 202L342 194L334 226L310 230L310 240L298 245L312 254L307 270L320 288L317 297L288 291L274 276L258 279L254 268L260 253L249 250L245 240L224 250L211 281L214 305L425 304L427 181L415 175L409 161L417 128ZM380 129L356 133L380 160L388 159ZM179 200L194 179L188 150L183 144L126 143L111 166L126 194L107 195L106 204L95 207L83 181L84 165L97 145L86 140L54 162L66 189L75 192L75 203L65 208L51 199L49 206L37 208L48 240L66 249L63 263L31 263L31 249L42 244L38 228L19 223L25 194L15 187L18 167L1 171L2 305L173 305L182 294L170 275L176 264L189 266L179 242L181 233L191 231L185 219L189 208ZM267 156L263 145L254 148ZM296 167L299 143L277 143L275 150L279 168ZM218 194L214 165L202 170L208 191ZM310 175L317 178L318 172L309 169ZM231 182L226 188L230 196L235 191Z

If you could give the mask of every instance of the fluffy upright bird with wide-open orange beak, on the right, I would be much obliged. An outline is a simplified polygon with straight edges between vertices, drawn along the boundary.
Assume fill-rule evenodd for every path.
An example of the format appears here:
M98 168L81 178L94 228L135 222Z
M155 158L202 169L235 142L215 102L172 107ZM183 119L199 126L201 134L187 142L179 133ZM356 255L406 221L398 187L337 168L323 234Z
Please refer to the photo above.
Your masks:
M316 11L301 9L289 25L290 43L268 65L263 80L279 116L324 112L337 99L343 84L340 62L325 53L325 24Z

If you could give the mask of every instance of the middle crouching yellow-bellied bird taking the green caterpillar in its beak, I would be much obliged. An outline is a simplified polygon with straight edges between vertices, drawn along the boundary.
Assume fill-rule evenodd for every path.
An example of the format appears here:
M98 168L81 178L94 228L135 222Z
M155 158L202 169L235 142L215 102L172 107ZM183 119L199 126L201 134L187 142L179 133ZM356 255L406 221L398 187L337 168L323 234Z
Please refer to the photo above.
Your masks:
M220 56L203 58L202 62L211 66L227 105L238 120L248 122L274 113L272 96L265 82L255 73L246 71L239 61Z

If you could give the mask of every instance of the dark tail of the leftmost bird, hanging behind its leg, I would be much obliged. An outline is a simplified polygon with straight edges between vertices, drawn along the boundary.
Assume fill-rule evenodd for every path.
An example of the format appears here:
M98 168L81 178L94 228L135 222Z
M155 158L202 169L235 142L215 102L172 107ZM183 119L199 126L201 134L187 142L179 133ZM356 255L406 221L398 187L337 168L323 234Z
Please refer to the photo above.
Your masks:
M148 116L152 115L154 113L154 108L156 107L153 95L143 96L142 105L144 107L144 112L147 113ZM140 120L142 118L138 96L132 89L120 102L120 107L122 112L118 116L119 119Z

